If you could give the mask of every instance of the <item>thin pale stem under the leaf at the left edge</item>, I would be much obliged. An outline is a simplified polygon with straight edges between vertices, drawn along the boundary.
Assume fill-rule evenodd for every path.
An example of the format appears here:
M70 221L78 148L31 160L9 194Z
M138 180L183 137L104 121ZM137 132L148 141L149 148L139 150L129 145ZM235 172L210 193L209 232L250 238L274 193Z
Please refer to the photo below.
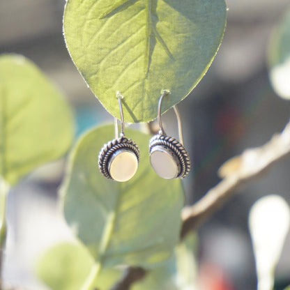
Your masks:
M2 278L3 251L6 245L6 203L10 186L6 181L0 179L0 275ZM2 279L0 279L0 290L2 289Z

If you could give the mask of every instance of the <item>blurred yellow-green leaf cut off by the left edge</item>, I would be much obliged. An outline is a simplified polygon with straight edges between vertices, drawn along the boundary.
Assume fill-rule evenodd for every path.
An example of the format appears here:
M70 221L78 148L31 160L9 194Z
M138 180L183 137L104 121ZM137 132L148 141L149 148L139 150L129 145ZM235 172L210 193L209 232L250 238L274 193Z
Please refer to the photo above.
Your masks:
M23 56L0 56L0 176L11 185L59 158L73 139L62 94Z

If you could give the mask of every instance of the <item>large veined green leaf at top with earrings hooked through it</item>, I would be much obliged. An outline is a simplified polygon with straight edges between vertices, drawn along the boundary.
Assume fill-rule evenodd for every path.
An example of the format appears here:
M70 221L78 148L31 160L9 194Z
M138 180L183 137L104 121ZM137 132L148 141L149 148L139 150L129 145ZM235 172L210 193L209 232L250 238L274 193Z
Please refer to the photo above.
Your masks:
M226 24L224 0L68 0L63 19L70 56L93 93L125 121L157 116L188 96L211 65Z

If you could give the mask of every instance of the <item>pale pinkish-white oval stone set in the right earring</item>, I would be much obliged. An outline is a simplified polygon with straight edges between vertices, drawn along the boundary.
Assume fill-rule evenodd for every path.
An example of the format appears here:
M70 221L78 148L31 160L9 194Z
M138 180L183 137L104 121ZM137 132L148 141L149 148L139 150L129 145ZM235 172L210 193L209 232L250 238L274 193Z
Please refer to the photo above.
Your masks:
M150 162L155 172L162 178L172 179L178 176L178 163L174 155L166 149L156 146L151 151Z

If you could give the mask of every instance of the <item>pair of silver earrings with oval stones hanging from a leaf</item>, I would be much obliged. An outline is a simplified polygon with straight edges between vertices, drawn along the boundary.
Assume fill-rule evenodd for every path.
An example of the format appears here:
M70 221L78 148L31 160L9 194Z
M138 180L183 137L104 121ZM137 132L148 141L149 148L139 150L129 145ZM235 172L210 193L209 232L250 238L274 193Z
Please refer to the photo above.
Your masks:
M161 121L161 105L168 94L164 91L158 102L158 124L160 130L149 142L151 166L156 174L165 179L185 178L190 171L190 158L183 147L181 117L176 106L174 112L178 121L179 141L166 135ZM140 159L137 144L124 134L124 118L121 99L117 93L121 116L121 133L118 137L118 121L115 118L115 139L105 144L98 156L98 166L102 175L115 181L128 181L135 175Z

